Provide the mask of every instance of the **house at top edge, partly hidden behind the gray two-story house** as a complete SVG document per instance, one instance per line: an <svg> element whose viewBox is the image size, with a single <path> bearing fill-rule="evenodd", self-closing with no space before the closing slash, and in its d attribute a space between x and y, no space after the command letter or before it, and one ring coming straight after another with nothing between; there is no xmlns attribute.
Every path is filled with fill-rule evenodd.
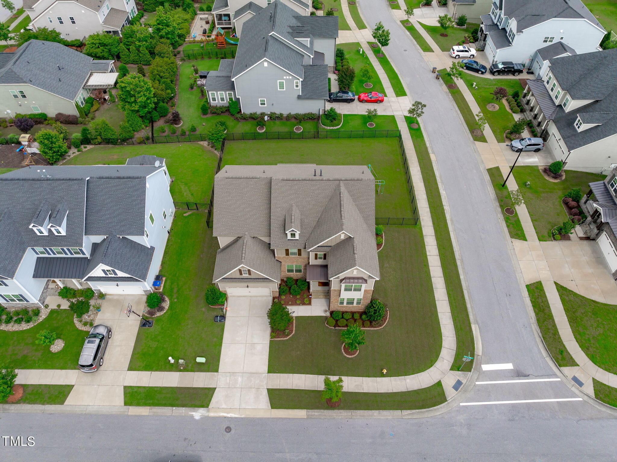
<svg viewBox="0 0 617 462"><path fill-rule="evenodd" d="M267 7L273 0L255 0L247 2L246 0L215 0L212 6L212 14L214 15L215 24L217 27L235 28L236 34L240 36L242 33L242 24L248 19L251 19L257 11ZM310 14L310 5L303 0L280 0L281 3L287 5L298 14L308 16Z"/></svg>

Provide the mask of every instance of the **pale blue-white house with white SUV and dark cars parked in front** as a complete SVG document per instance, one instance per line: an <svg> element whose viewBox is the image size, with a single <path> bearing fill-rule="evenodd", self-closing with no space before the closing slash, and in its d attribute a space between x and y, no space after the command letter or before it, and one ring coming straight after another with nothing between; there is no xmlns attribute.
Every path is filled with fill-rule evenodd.
<svg viewBox="0 0 617 462"><path fill-rule="evenodd" d="M607 33L581 0L495 0L481 19L479 46L489 62L526 67L537 49L558 41L579 54L597 51Z"/></svg>

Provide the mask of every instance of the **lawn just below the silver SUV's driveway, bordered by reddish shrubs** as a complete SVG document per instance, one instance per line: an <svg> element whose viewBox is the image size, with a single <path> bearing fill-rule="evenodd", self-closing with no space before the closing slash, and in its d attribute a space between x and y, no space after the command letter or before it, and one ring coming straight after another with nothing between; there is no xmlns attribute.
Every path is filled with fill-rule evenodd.
<svg viewBox="0 0 617 462"><path fill-rule="evenodd" d="M566 178L558 183L545 179L536 166L515 167L513 171L518 188L523 193L525 205L536 228L540 241L552 241L550 230L568 219L561 199L572 188L581 188L583 194L589 191L592 181L601 181L606 175L586 171L566 170ZM525 183L529 181L529 188Z"/></svg>

